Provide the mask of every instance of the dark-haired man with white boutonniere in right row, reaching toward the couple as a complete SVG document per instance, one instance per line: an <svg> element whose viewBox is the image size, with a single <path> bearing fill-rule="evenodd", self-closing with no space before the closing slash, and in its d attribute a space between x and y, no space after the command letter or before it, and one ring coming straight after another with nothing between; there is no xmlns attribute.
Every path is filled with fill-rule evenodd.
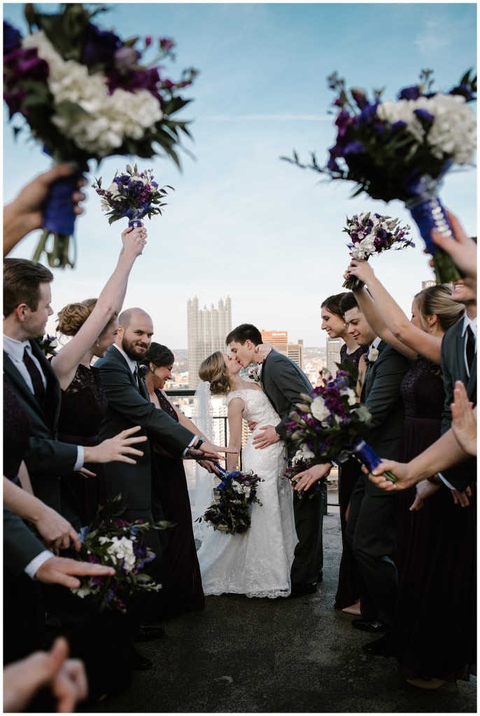
<svg viewBox="0 0 480 716"><path fill-rule="evenodd" d="M360 287L359 287L359 290ZM346 294L340 310L348 324L348 332L360 346L370 345L370 360L363 384L361 402L372 415L372 431L368 437L375 453L398 460L403 432L404 411L400 383L409 362L403 355L376 337L370 328L355 295ZM312 485L330 470L331 465L315 465L300 478L296 489ZM375 616L352 620L352 626L365 632L382 633L393 623L398 592L398 575L393 562L395 551L395 493L380 490L363 473L350 498L346 537L352 547L363 576L369 603ZM385 499L385 496L387 499ZM365 644L367 654L385 653L387 638Z"/></svg>

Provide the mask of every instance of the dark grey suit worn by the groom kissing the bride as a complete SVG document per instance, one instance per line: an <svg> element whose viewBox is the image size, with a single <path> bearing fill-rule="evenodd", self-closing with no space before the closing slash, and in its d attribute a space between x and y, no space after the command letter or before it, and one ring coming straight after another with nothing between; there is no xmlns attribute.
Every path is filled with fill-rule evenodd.
<svg viewBox="0 0 480 716"><path fill-rule="evenodd" d="M284 439L287 437L285 423L289 413L297 402L301 402L300 393L308 393L312 390L312 384L297 364L276 350L272 350L261 364L261 383L265 395L282 418L274 427ZM299 541L292 563L292 584L315 584L322 579L325 501L326 490L311 499L300 499L298 493L294 492L295 529Z"/></svg>

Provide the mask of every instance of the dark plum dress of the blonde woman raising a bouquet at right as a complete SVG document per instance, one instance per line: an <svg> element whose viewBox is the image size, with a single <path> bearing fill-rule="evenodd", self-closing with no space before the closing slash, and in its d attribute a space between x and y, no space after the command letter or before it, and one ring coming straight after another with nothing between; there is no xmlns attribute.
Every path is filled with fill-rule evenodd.
<svg viewBox="0 0 480 716"><path fill-rule="evenodd" d="M403 462L440 435L443 381L426 358L416 360L402 383ZM470 506L453 503L441 487L410 513L413 490L398 503L402 570L388 653L408 679L469 679L476 660L476 488ZM405 494L406 493L406 494ZM410 495L408 493L411 493Z"/></svg>

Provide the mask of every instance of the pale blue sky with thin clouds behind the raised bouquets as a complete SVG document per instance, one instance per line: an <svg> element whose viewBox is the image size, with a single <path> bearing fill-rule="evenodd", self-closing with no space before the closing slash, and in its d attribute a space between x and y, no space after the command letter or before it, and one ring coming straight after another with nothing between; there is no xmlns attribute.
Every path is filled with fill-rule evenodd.
<svg viewBox="0 0 480 716"><path fill-rule="evenodd" d="M46 9L47 4L40 4ZM57 4L50 4L52 9ZM160 185L176 192L161 217L147 221L148 246L133 268L125 307L149 311L155 340L186 347L186 302L201 306L231 296L234 325L288 330L291 340L325 345L320 304L342 290L348 263L345 217L378 211L408 221L403 205L363 195L350 199L350 183L325 183L320 175L279 160L297 150L321 163L334 143L333 70L347 85L369 92L385 87L394 99L414 84L422 68L435 71L436 89L449 89L476 62L476 4L110 4L101 16L123 38L173 37L170 74L194 66L201 74L193 97L193 142L183 173L162 158L138 160ZM4 17L25 30L22 4L4 4ZM135 158L133 158L135 160ZM104 184L125 167L110 158L90 177ZM4 120L4 200L48 167L41 148L13 142ZM476 171L447 175L443 203L476 234ZM92 189L77 221L74 271L55 270L53 307L99 294L120 251L123 222L111 227ZM374 257L380 280L410 310L421 281L432 278L421 238L416 248ZM38 236L12 256L32 256ZM53 328L49 324L49 329Z"/></svg>

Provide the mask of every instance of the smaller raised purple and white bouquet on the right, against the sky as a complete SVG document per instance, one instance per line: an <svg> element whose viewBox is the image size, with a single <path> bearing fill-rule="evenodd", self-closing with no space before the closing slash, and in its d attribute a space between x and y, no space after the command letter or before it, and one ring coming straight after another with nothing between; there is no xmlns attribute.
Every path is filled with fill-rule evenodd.
<svg viewBox="0 0 480 716"><path fill-rule="evenodd" d="M410 226L400 226L400 219L393 219L391 216L370 212L355 214L351 219L347 218L347 226L343 231L352 239L352 243L347 243L347 246L353 258L368 260L373 253L382 253L388 248L393 247L399 251L407 246L415 246L413 241L407 238ZM351 291L355 284L357 279L347 279L343 288Z"/></svg>

